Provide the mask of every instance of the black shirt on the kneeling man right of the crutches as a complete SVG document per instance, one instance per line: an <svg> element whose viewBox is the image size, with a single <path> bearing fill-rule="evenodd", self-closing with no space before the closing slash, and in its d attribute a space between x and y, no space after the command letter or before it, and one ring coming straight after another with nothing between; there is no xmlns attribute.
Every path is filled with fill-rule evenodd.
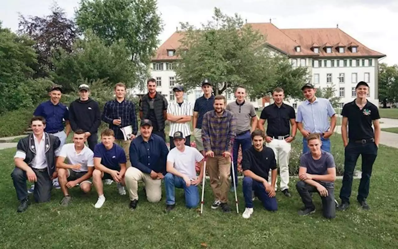
<svg viewBox="0 0 398 249"><path fill-rule="evenodd" d="M252 147L243 152L242 169L243 171L250 170L254 174L268 180L269 169L276 169L273 150L264 146L262 151L257 151L252 145Z"/></svg>

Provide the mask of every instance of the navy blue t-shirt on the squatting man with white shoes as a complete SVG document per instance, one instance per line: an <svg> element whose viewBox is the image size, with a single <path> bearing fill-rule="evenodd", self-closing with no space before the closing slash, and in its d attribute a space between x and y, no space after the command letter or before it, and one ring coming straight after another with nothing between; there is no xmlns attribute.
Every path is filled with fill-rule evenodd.
<svg viewBox="0 0 398 249"><path fill-rule="evenodd" d="M126 154L123 148L113 143L111 149L107 150L103 143L98 143L94 148L94 157L101 158L101 164L108 169L120 171L119 163L126 163Z"/></svg>

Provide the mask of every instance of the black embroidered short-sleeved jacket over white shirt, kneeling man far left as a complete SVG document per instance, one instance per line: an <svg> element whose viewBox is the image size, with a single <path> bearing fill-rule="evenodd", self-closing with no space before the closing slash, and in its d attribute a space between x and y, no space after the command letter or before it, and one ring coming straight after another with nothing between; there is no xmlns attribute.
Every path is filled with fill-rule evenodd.
<svg viewBox="0 0 398 249"><path fill-rule="evenodd" d="M51 177L55 171L55 151L60 147L60 140L58 137L51 135L47 132L45 136L45 153L47 160L47 171ZM18 141L17 151L22 151L26 154L23 160L29 167L32 167L31 162L36 156L35 140L33 139L33 133L27 137L24 137Z"/></svg>

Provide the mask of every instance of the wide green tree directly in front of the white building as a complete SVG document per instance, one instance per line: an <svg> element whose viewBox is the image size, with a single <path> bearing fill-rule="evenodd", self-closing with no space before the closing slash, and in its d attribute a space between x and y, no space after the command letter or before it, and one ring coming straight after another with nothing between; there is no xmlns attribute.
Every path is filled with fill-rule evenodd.
<svg viewBox="0 0 398 249"><path fill-rule="evenodd" d="M180 59L174 68L178 82L187 89L208 78L216 94L244 84L255 97L265 96L276 86L293 97L301 96L296 89L305 82L306 68L293 69L287 57L268 49L265 37L244 25L237 14L226 16L215 8L213 20L200 29L188 23L181 28Z"/></svg>

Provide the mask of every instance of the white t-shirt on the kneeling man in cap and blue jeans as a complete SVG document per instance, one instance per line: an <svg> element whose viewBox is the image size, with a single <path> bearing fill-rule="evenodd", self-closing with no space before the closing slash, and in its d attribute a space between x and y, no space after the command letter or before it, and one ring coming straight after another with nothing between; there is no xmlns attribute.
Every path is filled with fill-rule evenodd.
<svg viewBox="0 0 398 249"><path fill-rule="evenodd" d="M190 179L196 179L195 163L203 160L203 155L195 148L185 146L184 152L174 147L167 155L167 161L174 163L174 169Z"/></svg>

